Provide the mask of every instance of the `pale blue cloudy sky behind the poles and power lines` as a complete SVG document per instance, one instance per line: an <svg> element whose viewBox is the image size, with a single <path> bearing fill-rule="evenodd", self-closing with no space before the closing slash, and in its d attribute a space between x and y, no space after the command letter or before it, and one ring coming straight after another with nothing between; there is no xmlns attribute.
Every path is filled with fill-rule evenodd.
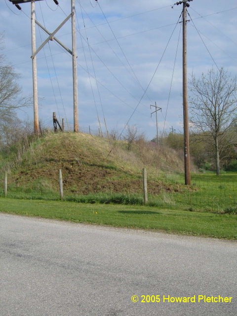
<svg viewBox="0 0 237 316"><path fill-rule="evenodd" d="M70 0L36 2L40 24L53 32L71 13ZM135 126L148 139L183 129L182 8L174 0L76 0L79 128L126 134ZM212 67L237 75L236 0L188 2L188 75ZM2 53L20 75L22 94L32 94L31 4L19 11L0 1ZM47 38L37 26L37 48ZM72 48L71 20L55 34ZM54 40L37 55L40 123L52 127L52 112L73 128L72 57ZM33 121L33 106L19 111Z"/></svg>

